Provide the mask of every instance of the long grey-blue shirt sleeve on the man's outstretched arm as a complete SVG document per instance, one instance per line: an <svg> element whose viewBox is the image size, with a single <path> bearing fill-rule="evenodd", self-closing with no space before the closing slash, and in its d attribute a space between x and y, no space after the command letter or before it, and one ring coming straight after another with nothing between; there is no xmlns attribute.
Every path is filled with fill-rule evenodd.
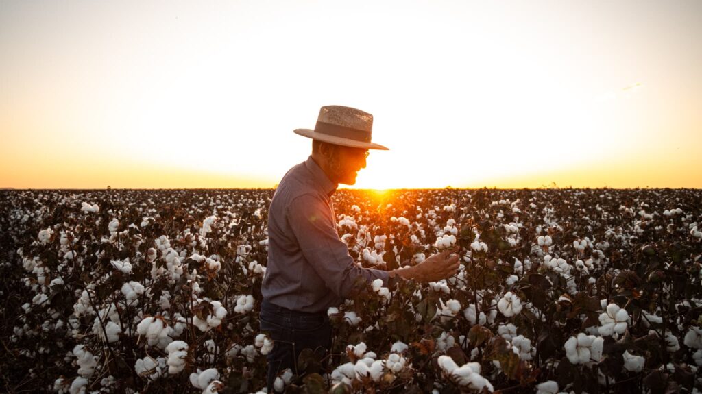
<svg viewBox="0 0 702 394"><path fill-rule="evenodd" d="M339 239L331 208L322 198L314 194L294 198L287 217L305 260L337 297L346 298L358 276L368 283L380 278L383 285L388 285L388 271L355 264L346 244Z"/></svg>

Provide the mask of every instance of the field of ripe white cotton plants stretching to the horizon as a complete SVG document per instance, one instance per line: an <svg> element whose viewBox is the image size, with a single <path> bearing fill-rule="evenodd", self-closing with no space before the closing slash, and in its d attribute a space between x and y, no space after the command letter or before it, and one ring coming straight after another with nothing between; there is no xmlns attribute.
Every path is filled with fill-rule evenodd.
<svg viewBox="0 0 702 394"><path fill-rule="evenodd" d="M263 393L272 190L0 191L2 390ZM702 191L349 191L359 283L288 393L699 393ZM325 374L306 373L322 365Z"/></svg>

